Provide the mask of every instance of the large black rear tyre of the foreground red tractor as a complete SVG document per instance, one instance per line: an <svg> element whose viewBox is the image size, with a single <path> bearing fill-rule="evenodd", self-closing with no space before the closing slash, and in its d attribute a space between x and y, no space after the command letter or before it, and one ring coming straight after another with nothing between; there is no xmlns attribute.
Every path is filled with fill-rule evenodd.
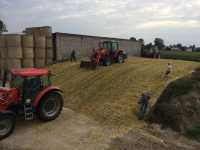
<svg viewBox="0 0 200 150"><path fill-rule="evenodd" d="M59 92L50 92L42 98L38 107L38 117L42 121L56 119L63 108L63 96Z"/></svg>

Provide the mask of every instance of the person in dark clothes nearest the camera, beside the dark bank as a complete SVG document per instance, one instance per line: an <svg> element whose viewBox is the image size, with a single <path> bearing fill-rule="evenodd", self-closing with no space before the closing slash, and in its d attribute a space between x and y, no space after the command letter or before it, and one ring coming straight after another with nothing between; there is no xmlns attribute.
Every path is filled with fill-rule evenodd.
<svg viewBox="0 0 200 150"><path fill-rule="evenodd" d="M143 117L146 114L150 99L151 97L148 92L142 93L142 96L140 97L138 102L138 104L140 104L140 110L139 110L140 117Z"/></svg>

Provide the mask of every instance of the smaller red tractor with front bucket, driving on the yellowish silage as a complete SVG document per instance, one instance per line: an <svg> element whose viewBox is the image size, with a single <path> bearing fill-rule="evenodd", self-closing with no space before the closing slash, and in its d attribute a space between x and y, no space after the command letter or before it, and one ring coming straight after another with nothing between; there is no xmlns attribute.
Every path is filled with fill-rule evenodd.
<svg viewBox="0 0 200 150"><path fill-rule="evenodd" d="M95 69L97 65L109 66L112 63L123 63L127 58L125 51L119 49L119 43L115 41L104 41L99 43L99 48L93 50L91 60L81 61L81 68Z"/></svg>

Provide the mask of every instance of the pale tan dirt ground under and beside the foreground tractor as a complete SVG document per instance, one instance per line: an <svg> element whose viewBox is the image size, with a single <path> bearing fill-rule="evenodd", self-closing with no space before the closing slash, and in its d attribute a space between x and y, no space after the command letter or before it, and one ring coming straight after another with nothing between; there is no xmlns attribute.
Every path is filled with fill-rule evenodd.
<svg viewBox="0 0 200 150"><path fill-rule="evenodd" d="M101 127L87 117L64 109L55 121L18 121L14 133L0 142L1 150L103 150L108 140L98 140Z"/></svg>

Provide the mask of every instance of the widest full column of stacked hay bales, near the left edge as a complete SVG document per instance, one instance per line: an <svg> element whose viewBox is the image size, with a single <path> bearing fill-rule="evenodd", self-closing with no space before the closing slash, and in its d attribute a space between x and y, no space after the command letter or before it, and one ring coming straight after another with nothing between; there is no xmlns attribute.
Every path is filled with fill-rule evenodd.
<svg viewBox="0 0 200 150"><path fill-rule="evenodd" d="M7 57L6 57L6 69L21 68L22 60L22 41L19 34L5 35Z"/></svg>

